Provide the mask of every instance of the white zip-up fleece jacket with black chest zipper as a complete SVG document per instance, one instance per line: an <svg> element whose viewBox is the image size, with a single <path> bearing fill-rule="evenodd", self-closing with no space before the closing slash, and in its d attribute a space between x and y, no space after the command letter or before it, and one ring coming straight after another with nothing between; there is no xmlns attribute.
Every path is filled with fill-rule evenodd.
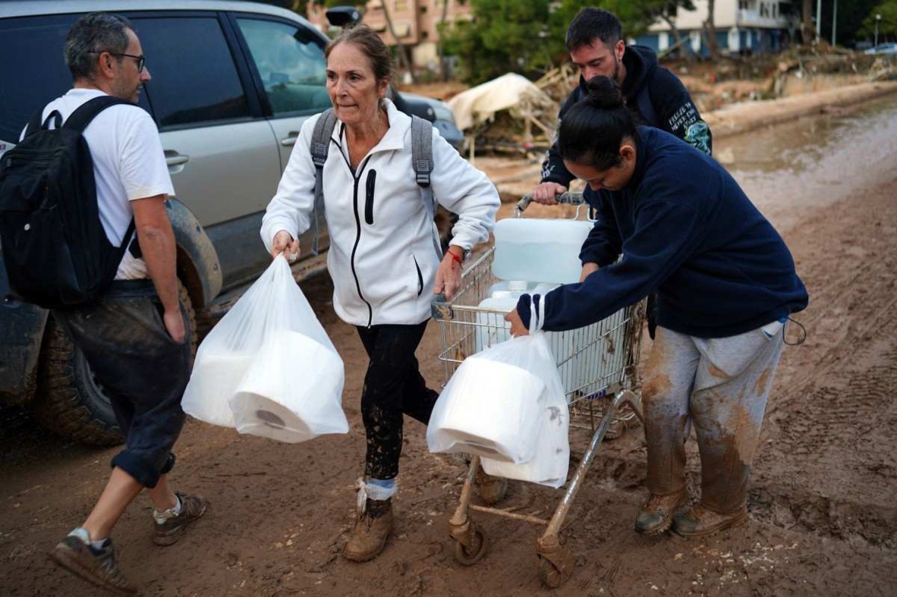
<svg viewBox="0 0 897 597"><path fill-rule="evenodd" d="M324 207L334 281L334 308L353 325L420 324L430 316L439 257L411 163L411 117L384 100L389 129L353 174L344 125L337 121L324 164ZM315 166L309 144L318 116L302 125L277 195L262 220L268 250L274 235L309 229ZM489 238L499 208L495 186L433 130L431 188L459 218L452 245L465 250Z"/></svg>

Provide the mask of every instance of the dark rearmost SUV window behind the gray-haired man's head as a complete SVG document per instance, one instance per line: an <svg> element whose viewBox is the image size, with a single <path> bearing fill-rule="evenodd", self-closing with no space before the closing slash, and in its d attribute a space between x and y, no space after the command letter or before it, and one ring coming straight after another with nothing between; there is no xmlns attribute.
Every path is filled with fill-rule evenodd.
<svg viewBox="0 0 897 597"><path fill-rule="evenodd" d="M0 141L18 143L28 119L72 88L65 36L78 14L0 19L4 48L27 60L0 59ZM149 109L146 99L140 105Z"/></svg>

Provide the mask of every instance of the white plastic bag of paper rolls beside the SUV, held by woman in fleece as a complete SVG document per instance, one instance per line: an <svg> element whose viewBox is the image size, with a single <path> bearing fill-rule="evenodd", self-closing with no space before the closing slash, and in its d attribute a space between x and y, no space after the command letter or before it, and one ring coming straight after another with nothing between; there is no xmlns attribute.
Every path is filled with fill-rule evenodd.
<svg viewBox="0 0 897 597"><path fill-rule="evenodd" d="M199 420L295 443L348 433L343 384L342 359L278 257L200 344L181 406Z"/></svg>

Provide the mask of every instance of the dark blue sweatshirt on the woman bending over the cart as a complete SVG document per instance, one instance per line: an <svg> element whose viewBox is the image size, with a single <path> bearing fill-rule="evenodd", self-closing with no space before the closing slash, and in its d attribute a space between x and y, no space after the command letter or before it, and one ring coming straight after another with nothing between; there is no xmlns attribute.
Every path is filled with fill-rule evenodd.
<svg viewBox="0 0 897 597"><path fill-rule="evenodd" d="M579 257L600 269L545 295L538 328L594 324L654 291L658 325L701 338L745 333L806 307L779 233L726 169L672 134L640 127L629 184L588 188L585 198L597 221ZM543 300L533 299L537 307ZM530 327L528 295L518 313Z"/></svg>

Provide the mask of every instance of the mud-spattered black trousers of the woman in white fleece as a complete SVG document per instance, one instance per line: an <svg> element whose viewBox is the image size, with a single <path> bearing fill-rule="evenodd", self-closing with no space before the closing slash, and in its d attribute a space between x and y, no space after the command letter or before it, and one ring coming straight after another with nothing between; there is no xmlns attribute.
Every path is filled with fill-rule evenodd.
<svg viewBox="0 0 897 597"><path fill-rule="evenodd" d="M368 479L396 478L403 414L424 425L430 422L439 394L427 387L414 358L426 329L426 321L358 328L370 358L361 392L361 420L368 437L364 475Z"/></svg>

